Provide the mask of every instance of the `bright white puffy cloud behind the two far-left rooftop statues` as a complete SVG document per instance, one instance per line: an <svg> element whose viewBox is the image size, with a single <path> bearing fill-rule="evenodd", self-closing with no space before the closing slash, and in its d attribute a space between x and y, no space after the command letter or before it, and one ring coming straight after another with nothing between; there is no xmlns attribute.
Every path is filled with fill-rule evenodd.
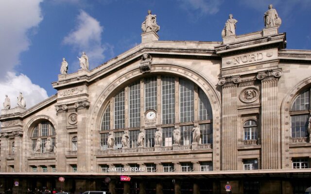
<svg viewBox="0 0 311 194"><path fill-rule="evenodd" d="M26 75L20 74L17 76L13 72L8 72L5 80L0 81L0 88L1 109L3 109L5 95L10 98L11 109L17 106L19 92L22 92L25 98L26 108L30 108L48 97L46 90L32 83Z"/></svg>

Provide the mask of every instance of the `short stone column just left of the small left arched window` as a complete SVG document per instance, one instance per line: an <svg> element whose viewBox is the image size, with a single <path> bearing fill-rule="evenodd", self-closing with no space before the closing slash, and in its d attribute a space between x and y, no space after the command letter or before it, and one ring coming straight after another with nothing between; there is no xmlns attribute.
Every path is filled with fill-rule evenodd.
<svg viewBox="0 0 311 194"><path fill-rule="evenodd" d="M12 135L14 135L14 171L22 172L22 138L23 131L13 131Z"/></svg>

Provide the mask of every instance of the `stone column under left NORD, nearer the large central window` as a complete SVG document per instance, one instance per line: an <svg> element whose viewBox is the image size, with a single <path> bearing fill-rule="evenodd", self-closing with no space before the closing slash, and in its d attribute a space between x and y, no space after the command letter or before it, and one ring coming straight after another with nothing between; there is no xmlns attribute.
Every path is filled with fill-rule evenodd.
<svg viewBox="0 0 311 194"><path fill-rule="evenodd" d="M89 138L88 134L90 134L89 129L87 129L86 125L86 112L89 107L88 101L76 102L74 107L78 112L78 150L77 150L77 168L79 172L88 172L91 152L90 152L90 144L88 143ZM85 160L85 159L88 160Z"/></svg>

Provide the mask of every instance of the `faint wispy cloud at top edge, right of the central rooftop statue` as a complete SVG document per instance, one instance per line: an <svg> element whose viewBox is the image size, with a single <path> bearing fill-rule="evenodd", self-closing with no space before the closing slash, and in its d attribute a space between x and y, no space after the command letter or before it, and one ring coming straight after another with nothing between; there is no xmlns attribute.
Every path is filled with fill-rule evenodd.
<svg viewBox="0 0 311 194"><path fill-rule="evenodd" d="M178 0L180 7L193 17L201 17L204 15L213 15L219 11L223 0Z"/></svg>

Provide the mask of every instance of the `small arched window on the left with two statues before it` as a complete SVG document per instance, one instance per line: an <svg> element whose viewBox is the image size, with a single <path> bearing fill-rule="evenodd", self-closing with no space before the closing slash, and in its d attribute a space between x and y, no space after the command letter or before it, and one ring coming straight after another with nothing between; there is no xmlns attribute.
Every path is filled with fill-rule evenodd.
<svg viewBox="0 0 311 194"><path fill-rule="evenodd" d="M55 146L55 128L50 121L42 121L35 125L31 136L32 141L32 153L44 153L46 152L45 143L50 138L52 151L54 152ZM39 140L39 141L38 141ZM40 142L40 149L36 150L37 142Z"/></svg>

